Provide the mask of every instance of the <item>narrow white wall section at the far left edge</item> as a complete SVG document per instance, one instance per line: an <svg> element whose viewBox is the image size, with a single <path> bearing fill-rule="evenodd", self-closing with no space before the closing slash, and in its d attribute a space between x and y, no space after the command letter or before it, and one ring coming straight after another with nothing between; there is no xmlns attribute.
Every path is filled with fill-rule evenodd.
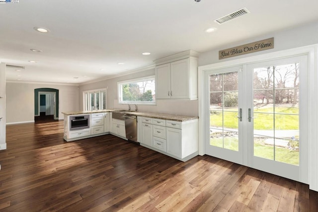
<svg viewBox="0 0 318 212"><path fill-rule="evenodd" d="M5 142L5 64L0 63L0 150L6 149Z"/></svg>

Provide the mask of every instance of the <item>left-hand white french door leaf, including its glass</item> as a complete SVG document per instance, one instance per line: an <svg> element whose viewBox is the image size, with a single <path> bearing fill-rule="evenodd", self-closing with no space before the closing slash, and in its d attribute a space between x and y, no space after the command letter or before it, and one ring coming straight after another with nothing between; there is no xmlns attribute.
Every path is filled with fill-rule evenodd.
<svg viewBox="0 0 318 212"><path fill-rule="evenodd" d="M243 164L241 70L236 66L205 73L210 132L206 154L239 164Z"/></svg>

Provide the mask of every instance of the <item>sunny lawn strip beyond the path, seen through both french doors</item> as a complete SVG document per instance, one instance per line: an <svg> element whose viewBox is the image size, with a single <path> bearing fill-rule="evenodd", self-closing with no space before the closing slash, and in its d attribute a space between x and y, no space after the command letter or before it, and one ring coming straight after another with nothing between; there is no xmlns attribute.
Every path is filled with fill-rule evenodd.
<svg viewBox="0 0 318 212"><path fill-rule="evenodd" d="M264 107L254 109L254 129L271 130L273 129L273 107ZM277 113L291 113L277 114ZM275 126L276 129L298 129L299 125L299 109L297 107L275 107ZM238 128L238 112L224 111L224 127ZM223 126L222 112L211 111L210 114L211 126Z"/></svg>

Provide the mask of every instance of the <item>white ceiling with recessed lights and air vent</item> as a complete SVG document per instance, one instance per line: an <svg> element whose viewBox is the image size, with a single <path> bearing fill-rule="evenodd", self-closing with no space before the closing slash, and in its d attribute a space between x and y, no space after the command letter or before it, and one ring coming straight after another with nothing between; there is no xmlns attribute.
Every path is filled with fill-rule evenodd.
<svg viewBox="0 0 318 212"><path fill-rule="evenodd" d="M214 22L243 7L250 13ZM317 21L317 9L317 0L19 0L0 4L0 61L25 67L7 68L7 81L81 84Z"/></svg>

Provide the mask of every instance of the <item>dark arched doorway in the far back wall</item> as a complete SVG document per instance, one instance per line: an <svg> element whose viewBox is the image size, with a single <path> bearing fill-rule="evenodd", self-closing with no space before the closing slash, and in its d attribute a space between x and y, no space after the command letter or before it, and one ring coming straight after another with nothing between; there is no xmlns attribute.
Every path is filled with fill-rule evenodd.
<svg viewBox="0 0 318 212"><path fill-rule="evenodd" d="M52 88L34 89L34 121L59 119L59 90Z"/></svg>

